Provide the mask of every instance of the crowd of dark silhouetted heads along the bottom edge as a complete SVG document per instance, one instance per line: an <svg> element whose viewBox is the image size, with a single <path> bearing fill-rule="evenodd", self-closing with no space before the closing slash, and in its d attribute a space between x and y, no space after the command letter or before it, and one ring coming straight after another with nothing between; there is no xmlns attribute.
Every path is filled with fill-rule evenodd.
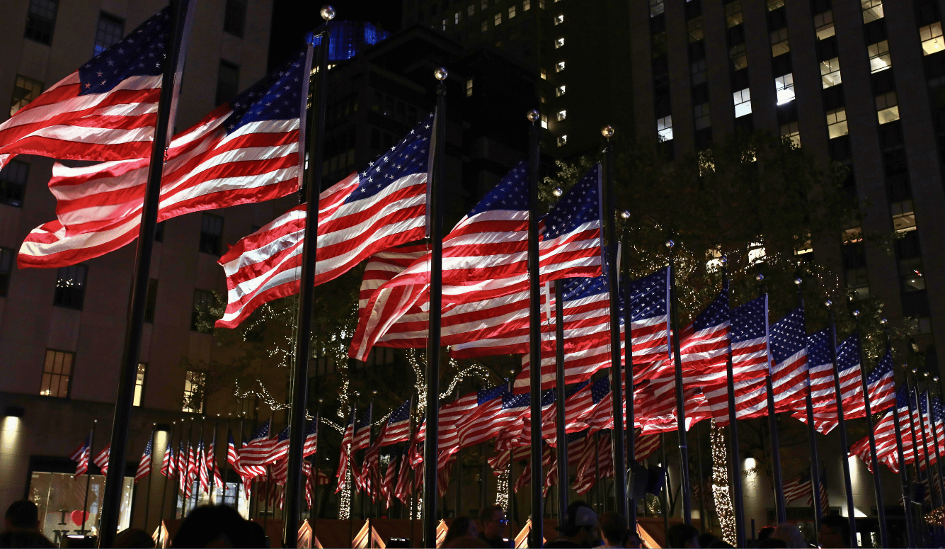
<svg viewBox="0 0 945 549"><path fill-rule="evenodd" d="M450 523L441 547L490 549L513 546L513 541L504 537L508 533L508 520L502 506L482 508L477 519L456 517ZM623 515L607 511L598 516L592 506L582 501L568 506L557 530L557 537L546 542L545 547L643 547L639 534L627 527ZM818 535L822 547L850 547L850 523L844 517L825 517ZM551 539L550 533L547 537ZM94 547L94 539L70 538L65 540L65 546ZM118 533L114 546L152 548L155 542L144 530L129 528ZM269 540L261 525L247 521L231 506L198 506L180 523L172 546L269 547ZM394 547L395 543L387 546ZM699 535L695 526L682 523L670 526L665 546L676 549L731 547L713 534ZM789 523L765 526L749 546L753 549L810 547L798 527ZM40 531L36 504L22 500L9 506L4 517L4 531L0 534L0 547L56 547Z"/></svg>

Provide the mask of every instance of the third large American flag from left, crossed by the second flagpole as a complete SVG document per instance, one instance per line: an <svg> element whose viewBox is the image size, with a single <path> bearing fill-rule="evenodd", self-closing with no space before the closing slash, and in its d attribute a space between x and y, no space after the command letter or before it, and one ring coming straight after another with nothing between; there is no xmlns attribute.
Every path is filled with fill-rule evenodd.
<svg viewBox="0 0 945 549"><path fill-rule="evenodd" d="M364 171L319 195L317 284L375 252L423 238L431 123L427 117ZM262 304L299 293L305 208L289 210L220 258L229 302L216 326L234 328Z"/></svg>

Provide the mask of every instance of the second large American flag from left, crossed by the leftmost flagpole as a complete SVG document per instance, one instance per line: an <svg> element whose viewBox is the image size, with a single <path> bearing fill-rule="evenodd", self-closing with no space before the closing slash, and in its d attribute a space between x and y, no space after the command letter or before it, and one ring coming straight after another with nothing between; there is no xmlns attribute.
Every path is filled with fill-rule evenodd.
<svg viewBox="0 0 945 549"><path fill-rule="evenodd" d="M304 53L297 54L171 141L158 221L283 197L298 188L304 61ZM137 238L148 163L54 166L49 188L58 218L27 236L19 265L75 265Z"/></svg>

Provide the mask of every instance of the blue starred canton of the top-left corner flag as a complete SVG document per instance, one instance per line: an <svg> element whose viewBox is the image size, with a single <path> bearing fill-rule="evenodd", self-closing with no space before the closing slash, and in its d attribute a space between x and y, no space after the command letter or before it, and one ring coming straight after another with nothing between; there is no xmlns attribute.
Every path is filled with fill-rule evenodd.
<svg viewBox="0 0 945 549"><path fill-rule="evenodd" d="M167 7L152 15L124 40L79 67L79 94L104 94L129 77L160 76L170 22L170 7Z"/></svg>

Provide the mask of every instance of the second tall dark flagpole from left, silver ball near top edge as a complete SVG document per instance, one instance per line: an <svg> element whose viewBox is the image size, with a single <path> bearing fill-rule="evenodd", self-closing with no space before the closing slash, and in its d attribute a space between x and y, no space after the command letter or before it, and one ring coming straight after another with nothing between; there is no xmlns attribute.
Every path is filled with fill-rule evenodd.
<svg viewBox="0 0 945 549"><path fill-rule="evenodd" d="M325 139L325 105L327 91L325 78L328 73L328 49L331 42L331 33L328 31L328 22L335 18L335 9L325 6L321 9L321 17L325 20L325 27L318 37L318 76L316 89L312 92L312 108L308 111L308 129L310 132L308 143L304 143L305 129L300 128L299 163L305 164L305 145L308 146L308 169L300 174L300 183L305 193L305 231L304 245L301 251L301 277L299 290L299 310L296 318L295 353L292 360L292 400L289 405L289 449L288 470L285 481L285 514L283 515L283 543L285 547L296 547L299 543L299 520L301 518L301 461L302 448L305 445L305 411L308 399L308 357L312 335L312 301L315 299L315 275L318 261L318 193L321 192L321 155ZM313 36L305 46L305 63L308 70L306 77L311 75L312 57L314 54ZM306 92L309 86L302 88ZM301 94L300 112L305 112L308 94ZM305 116L300 116L300 124ZM268 494L266 494L268 502Z"/></svg>

